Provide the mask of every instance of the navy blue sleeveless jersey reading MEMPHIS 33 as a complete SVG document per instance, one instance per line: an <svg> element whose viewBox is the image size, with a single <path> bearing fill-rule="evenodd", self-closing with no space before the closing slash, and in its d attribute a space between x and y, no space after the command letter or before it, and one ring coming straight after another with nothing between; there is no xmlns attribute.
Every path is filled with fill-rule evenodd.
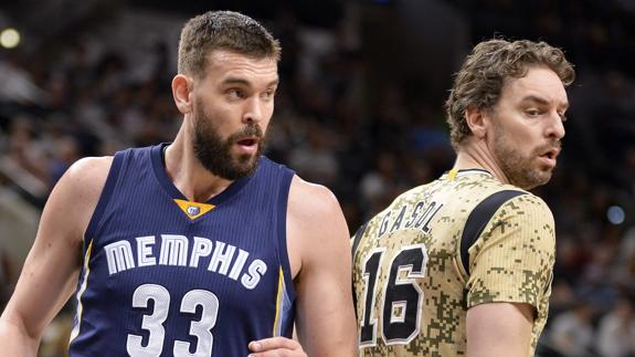
<svg viewBox="0 0 635 357"><path fill-rule="evenodd" d="M114 157L84 237L70 355L244 357L289 336L293 171L256 171L204 203L167 176L165 145Z"/></svg>

